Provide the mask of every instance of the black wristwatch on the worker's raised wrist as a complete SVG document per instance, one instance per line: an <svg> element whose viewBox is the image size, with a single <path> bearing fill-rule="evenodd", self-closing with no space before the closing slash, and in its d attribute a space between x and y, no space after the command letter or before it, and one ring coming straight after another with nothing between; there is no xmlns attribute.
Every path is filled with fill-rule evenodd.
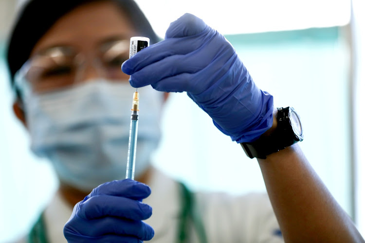
<svg viewBox="0 0 365 243"><path fill-rule="evenodd" d="M303 140L302 124L292 107L277 108L277 127L270 136L261 136L241 146L250 158L263 158Z"/></svg>

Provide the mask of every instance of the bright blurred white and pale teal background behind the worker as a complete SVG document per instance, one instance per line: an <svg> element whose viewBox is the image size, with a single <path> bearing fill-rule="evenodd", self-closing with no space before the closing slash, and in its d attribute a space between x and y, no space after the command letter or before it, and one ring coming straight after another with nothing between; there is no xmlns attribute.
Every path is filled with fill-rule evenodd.
<svg viewBox="0 0 365 243"><path fill-rule="evenodd" d="M52 168L31 154L26 130L12 113L4 46L20 3L0 0L1 243L27 232L57 188ZM137 3L162 38L186 12L226 36L257 86L274 95L275 106L299 113L300 147L365 236L364 0ZM192 190L265 191L257 161L221 134L186 93L170 95L162 126L154 163L165 173Z"/></svg>

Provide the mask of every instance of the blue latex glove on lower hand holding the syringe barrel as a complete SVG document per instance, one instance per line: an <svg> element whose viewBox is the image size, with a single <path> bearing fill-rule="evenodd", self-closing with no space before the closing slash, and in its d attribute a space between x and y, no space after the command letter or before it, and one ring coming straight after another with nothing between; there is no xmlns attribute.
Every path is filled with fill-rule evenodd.
<svg viewBox="0 0 365 243"><path fill-rule="evenodd" d="M142 199L150 193L148 186L130 179L102 184L75 205L63 234L69 243L148 241L154 231L142 220L152 208Z"/></svg>

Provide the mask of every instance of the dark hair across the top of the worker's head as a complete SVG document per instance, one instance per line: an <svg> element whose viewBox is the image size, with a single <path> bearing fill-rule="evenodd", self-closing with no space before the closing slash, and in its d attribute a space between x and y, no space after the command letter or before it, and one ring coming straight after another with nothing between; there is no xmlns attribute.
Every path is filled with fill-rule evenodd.
<svg viewBox="0 0 365 243"><path fill-rule="evenodd" d="M20 10L7 43L6 60L10 71L10 81L14 86L14 75L28 60L37 41L55 22L79 5L102 0L29 0ZM132 20L133 27L157 43L158 36L147 18L133 0L108 0L114 2ZM42 10L42 11L40 11ZM16 90L18 98L19 92Z"/></svg>

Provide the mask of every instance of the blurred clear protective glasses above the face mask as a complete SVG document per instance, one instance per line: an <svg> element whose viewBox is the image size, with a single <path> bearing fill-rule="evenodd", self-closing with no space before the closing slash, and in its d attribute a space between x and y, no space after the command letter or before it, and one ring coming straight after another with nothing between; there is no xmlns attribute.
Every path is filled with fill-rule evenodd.
<svg viewBox="0 0 365 243"><path fill-rule="evenodd" d="M20 92L52 92L82 82L89 68L98 77L120 82L128 79L121 65L129 58L129 40L113 40L97 48L95 53L77 52L72 46L48 48L31 57L15 74Z"/></svg>

